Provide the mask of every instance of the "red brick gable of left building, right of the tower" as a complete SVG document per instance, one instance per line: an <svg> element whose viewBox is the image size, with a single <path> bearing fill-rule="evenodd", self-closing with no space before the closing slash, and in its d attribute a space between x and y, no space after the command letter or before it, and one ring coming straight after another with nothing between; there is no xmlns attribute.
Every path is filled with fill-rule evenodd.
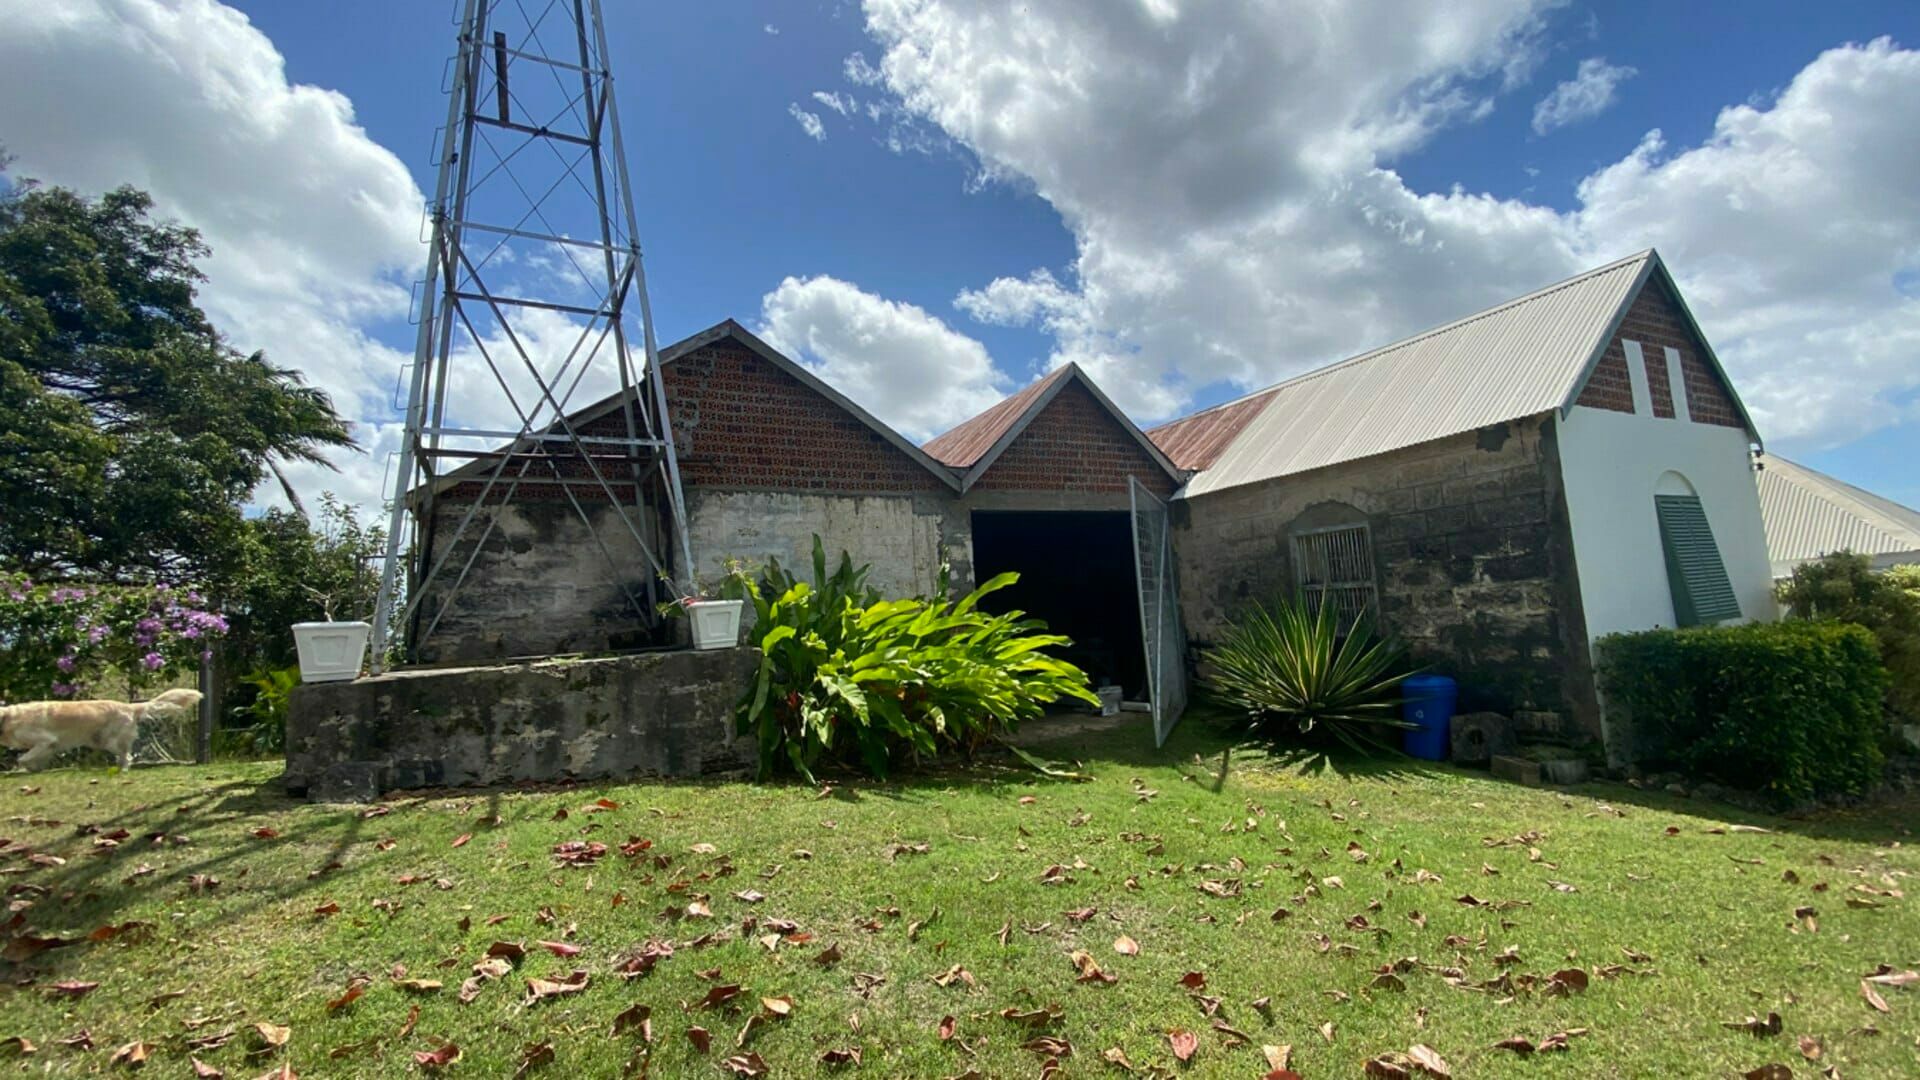
<svg viewBox="0 0 1920 1080"><path fill-rule="evenodd" d="M939 479L879 432L722 340L660 367L684 486L929 492ZM612 417L612 427L622 421Z"/></svg>

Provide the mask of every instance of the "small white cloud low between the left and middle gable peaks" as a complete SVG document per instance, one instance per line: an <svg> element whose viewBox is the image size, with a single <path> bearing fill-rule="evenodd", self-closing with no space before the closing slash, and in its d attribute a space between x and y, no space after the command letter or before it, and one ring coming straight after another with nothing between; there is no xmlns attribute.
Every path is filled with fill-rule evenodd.
<svg viewBox="0 0 1920 1080"><path fill-rule="evenodd" d="M837 277L789 277L760 300L756 332L914 442L1000 400L987 346L924 307Z"/></svg>

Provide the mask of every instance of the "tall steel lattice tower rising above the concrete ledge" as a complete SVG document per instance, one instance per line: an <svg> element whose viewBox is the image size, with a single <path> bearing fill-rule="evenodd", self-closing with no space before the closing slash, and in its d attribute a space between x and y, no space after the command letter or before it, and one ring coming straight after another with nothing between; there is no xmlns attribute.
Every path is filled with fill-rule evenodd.
<svg viewBox="0 0 1920 1080"><path fill-rule="evenodd" d="M630 582L582 498L612 503L599 528L649 563L622 584L643 625L655 580L693 565L601 0L465 0L447 90L374 671L394 632L419 655L472 569L459 542L478 553L522 494L570 507ZM568 411L612 392L624 429L576 430ZM442 521L455 484L470 502Z"/></svg>

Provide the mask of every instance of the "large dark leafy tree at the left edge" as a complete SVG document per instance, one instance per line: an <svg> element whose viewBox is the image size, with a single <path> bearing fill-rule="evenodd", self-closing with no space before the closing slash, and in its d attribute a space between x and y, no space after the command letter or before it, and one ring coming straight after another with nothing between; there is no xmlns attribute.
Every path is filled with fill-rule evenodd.
<svg viewBox="0 0 1920 1080"><path fill-rule="evenodd" d="M323 390L211 327L209 250L152 206L0 190L0 565L225 598L261 479L353 438Z"/></svg>

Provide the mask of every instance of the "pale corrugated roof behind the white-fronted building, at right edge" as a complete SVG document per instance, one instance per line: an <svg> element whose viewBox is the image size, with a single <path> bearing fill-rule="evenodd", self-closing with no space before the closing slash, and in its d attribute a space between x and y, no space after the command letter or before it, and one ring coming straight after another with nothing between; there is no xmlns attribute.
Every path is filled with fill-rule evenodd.
<svg viewBox="0 0 1920 1080"><path fill-rule="evenodd" d="M1786 457L1768 454L1763 465L1761 519L1776 575L1828 552L1859 552L1882 563L1920 561L1920 511Z"/></svg>

